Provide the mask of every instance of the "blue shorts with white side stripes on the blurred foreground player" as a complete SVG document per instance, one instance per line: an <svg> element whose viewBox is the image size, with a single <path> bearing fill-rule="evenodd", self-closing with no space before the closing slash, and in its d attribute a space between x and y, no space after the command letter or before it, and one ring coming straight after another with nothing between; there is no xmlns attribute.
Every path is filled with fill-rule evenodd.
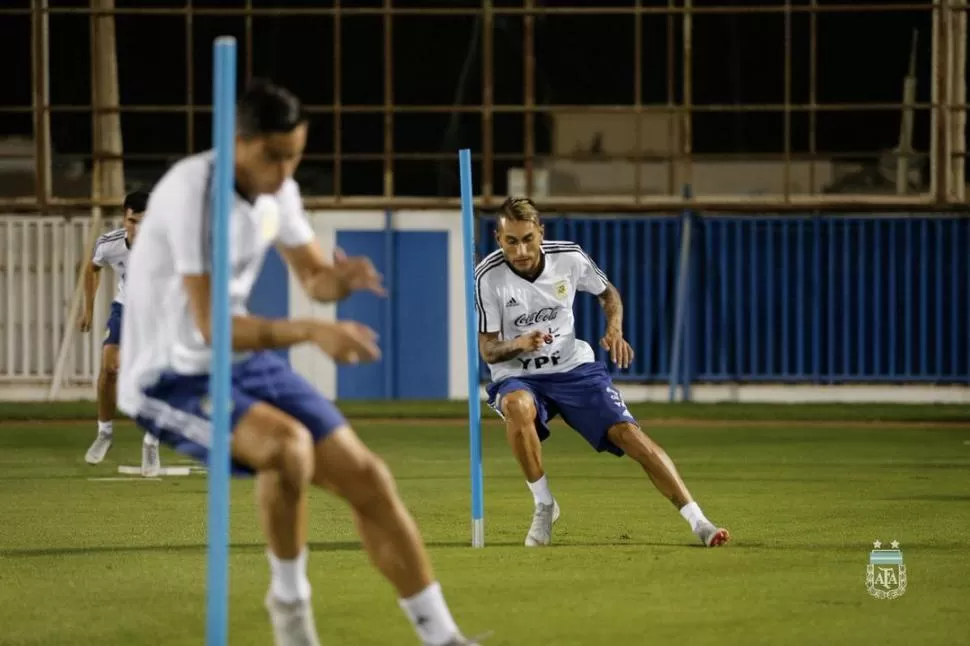
<svg viewBox="0 0 970 646"><path fill-rule="evenodd" d="M160 442L208 463L212 425L209 413L209 375L165 373L144 391L135 421ZM275 352L257 352L232 370L231 424L235 430L249 408L265 402L303 424L314 443L347 421L337 407L293 372ZM252 475L253 469L235 460L233 475Z"/></svg>

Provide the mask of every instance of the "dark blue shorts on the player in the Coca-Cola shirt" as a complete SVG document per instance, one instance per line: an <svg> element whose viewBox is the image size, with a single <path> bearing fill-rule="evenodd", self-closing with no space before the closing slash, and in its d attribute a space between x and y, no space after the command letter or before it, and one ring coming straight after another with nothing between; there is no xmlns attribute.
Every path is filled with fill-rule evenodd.
<svg viewBox="0 0 970 646"><path fill-rule="evenodd" d="M638 425L601 362L584 363L568 372L509 377L489 384L488 405L501 415L502 397L517 390L527 391L535 400L539 441L549 437L549 421L561 415L594 449L621 456L623 450L609 440L607 432L621 423Z"/></svg>

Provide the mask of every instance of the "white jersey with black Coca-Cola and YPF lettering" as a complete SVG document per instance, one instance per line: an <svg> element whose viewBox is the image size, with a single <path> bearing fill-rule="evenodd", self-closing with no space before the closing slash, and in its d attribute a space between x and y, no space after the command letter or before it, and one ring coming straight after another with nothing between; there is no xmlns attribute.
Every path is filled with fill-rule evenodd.
<svg viewBox="0 0 970 646"><path fill-rule="evenodd" d="M492 381L567 372L595 360L589 344L576 338L573 300L577 291L602 294L609 285L606 274L572 242L543 242L542 262L535 280L513 270L501 249L475 268L479 333L498 332L505 341L533 330L552 336L552 343L536 352L489 364Z"/></svg>

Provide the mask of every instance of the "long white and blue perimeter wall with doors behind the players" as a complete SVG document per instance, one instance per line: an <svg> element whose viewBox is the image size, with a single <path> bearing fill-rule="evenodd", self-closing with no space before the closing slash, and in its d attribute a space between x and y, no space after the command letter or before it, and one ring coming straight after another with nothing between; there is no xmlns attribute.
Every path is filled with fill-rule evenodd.
<svg viewBox="0 0 970 646"><path fill-rule="evenodd" d="M458 214L321 212L311 219L327 253L340 246L371 257L391 297L311 303L273 253L252 310L360 320L381 335L384 357L345 367L309 347L282 354L338 399L464 399ZM83 219L39 220L0 220L4 399L46 393L74 284L69 270L83 257ZM681 370L695 401L970 403L966 217L550 218L547 237L582 244L624 296L637 359L615 377L629 401L668 396L685 223L692 242ZM481 223L478 239L479 256L493 248L490 222ZM111 283L102 282L99 312ZM576 313L581 336L595 341L603 330L595 299L581 295ZM95 323L103 326L103 317ZM100 335L76 346L64 397L88 398Z"/></svg>

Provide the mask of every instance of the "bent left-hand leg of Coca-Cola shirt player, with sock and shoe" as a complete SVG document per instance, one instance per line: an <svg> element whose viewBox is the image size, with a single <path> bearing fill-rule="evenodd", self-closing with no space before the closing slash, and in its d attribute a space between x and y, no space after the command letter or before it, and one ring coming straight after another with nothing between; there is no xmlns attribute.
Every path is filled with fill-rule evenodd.
<svg viewBox="0 0 970 646"><path fill-rule="evenodd" d="M510 390L502 393L497 403L505 418L506 439L522 468L535 504L525 545L549 545L552 542L552 526L559 520L559 503L549 489L549 480L542 468L542 445L536 429L539 411L535 396L528 390Z"/></svg>

